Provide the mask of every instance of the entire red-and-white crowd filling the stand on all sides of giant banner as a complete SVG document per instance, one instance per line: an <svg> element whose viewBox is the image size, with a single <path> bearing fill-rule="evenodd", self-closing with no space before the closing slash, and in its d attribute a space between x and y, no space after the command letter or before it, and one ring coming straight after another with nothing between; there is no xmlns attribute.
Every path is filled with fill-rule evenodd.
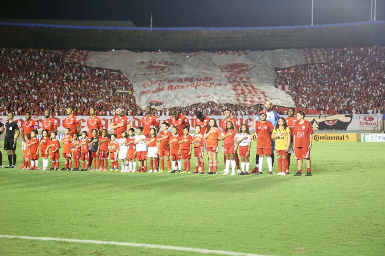
<svg viewBox="0 0 385 256"><path fill-rule="evenodd" d="M327 53L329 63L296 65L291 69L293 72L276 73L276 85L290 86L288 93L296 108L328 114L384 113L385 48L330 48ZM45 109L65 115L69 102L75 108L75 115L88 115L90 107L97 108L97 115L114 115L114 109L122 107L122 103L126 115L144 115L132 96L131 81L108 69L70 62L64 50L3 48L0 70L2 115L7 112L23 115L25 111L42 115ZM128 90L114 91L117 86ZM236 116L254 115L263 105L245 107L208 102L176 110L184 115L198 111L223 115L228 108ZM168 115L171 109L154 111L157 115Z"/></svg>

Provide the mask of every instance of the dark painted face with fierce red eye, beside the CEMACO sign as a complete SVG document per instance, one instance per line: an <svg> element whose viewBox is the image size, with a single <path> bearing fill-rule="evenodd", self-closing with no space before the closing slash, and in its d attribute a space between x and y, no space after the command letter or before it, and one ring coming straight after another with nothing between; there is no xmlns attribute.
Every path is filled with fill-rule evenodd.
<svg viewBox="0 0 385 256"><path fill-rule="evenodd" d="M315 131L333 131L346 130L352 122L353 115L331 115L318 118L311 117L313 120L308 120Z"/></svg>

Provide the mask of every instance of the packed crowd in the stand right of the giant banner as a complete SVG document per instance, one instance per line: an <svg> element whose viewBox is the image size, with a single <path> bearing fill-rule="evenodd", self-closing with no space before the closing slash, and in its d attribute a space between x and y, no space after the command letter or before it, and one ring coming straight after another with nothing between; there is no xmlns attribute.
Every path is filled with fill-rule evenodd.
<svg viewBox="0 0 385 256"><path fill-rule="evenodd" d="M296 65L277 73L297 108L334 113L384 113L385 47L330 48L329 63Z"/></svg>

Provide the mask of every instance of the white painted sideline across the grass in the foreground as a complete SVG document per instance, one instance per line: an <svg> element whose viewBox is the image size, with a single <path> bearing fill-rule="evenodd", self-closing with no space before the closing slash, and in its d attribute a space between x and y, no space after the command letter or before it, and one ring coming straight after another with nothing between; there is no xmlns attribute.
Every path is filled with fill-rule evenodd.
<svg viewBox="0 0 385 256"><path fill-rule="evenodd" d="M9 236L9 235L0 235L0 238L20 238L20 239L30 239L30 240L63 241L63 242L72 242L72 243L88 243L88 244L112 244L112 245L120 245L120 246L134 246L134 247L166 249L166 250L176 250L176 251L192 251L195 253L215 253L215 254L233 255L233 256L268 256L268 255L253 254L253 253L237 253L233 251L220 251L220 250L209 250L209 249L199 249L199 248L189 248L189 247L179 247L179 246L156 245L156 244L122 243L122 242L113 242L113 241L97 241L97 240L83 240L83 239L80 240L80 239L34 237L34 236Z"/></svg>

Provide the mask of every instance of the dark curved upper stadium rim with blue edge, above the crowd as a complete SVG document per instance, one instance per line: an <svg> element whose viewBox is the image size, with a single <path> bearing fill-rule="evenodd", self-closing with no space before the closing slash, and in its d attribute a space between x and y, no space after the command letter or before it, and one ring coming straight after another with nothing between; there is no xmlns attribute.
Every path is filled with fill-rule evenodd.
<svg viewBox="0 0 385 256"><path fill-rule="evenodd" d="M385 46L385 21L290 27L138 28L0 22L0 46L171 51Z"/></svg>

